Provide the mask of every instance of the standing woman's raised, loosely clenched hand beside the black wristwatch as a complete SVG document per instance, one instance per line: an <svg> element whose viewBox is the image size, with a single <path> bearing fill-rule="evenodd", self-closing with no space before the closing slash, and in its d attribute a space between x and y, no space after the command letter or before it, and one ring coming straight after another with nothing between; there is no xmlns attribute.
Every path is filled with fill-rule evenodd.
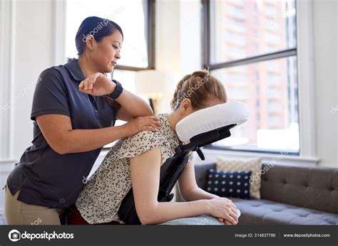
<svg viewBox="0 0 338 246"><path fill-rule="evenodd" d="M115 90L116 83L109 80L102 73L94 73L93 75L82 80L78 89L86 94L93 96L110 95Z"/></svg>

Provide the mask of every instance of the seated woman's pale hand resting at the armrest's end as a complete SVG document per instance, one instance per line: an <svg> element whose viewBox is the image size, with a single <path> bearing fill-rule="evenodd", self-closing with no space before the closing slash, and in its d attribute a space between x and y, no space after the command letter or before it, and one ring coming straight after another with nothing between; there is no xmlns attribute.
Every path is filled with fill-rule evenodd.
<svg viewBox="0 0 338 246"><path fill-rule="evenodd" d="M232 203L231 200L227 198L212 198L210 201L210 215L215 218L221 218L224 220L225 225L231 223L231 225L236 225L238 223L237 219L237 207ZM220 221L220 220L219 220Z"/></svg>

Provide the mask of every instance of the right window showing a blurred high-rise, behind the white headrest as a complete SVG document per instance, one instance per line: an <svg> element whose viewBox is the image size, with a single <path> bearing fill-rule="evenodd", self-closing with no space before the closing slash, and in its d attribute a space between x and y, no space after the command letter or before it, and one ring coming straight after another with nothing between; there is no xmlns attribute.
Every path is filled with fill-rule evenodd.
<svg viewBox="0 0 338 246"><path fill-rule="evenodd" d="M203 0L203 23L204 67L250 108L232 137L208 147L298 155L295 0Z"/></svg>

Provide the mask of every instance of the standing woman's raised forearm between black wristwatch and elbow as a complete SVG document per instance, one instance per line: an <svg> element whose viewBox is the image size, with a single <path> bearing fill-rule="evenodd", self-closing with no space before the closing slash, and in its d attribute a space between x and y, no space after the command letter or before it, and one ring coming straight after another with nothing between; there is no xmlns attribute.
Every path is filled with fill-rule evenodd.
<svg viewBox="0 0 338 246"><path fill-rule="evenodd" d="M128 92L128 90L123 90L118 99L116 99L116 102L125 108L133 118L152 116L154 114L153 109L151 109L145 100Z"/></svg>

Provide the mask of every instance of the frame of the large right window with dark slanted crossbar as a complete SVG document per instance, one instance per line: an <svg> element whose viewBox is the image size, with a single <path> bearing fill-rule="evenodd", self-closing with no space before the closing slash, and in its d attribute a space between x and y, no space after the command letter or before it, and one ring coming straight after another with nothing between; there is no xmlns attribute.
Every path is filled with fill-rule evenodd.
<svg viewBox="0 0 338 246"><path fill-rule="evenodd" d="M271 53L263 53L260 55L252 55L247 58L240 58L237 60L230 60L227 62L222 62L222 63L211 63L211 8L210 8L210 1L212 0L201 0L202 1L202 62L203 65L202 67L205 69L210 70L217 70L217 69L222 69L222 68L232 68L240 65L247 65L250 63L259 63L262 61L267 61L267 60L275 60L279 58L287 58L287 57L292 57L295 56L297 59L297 47L298 47L298 24L297 24L297 0L295 0L295 9L296 9L296 46L294 48L285 48L283 50L276 50ZM299 64L299 61L297 59L297 64ZM299 66L297 66L297 86L299 88ZM251 152L251 153L260 153L260 154L280 154L281 152L285 153L287 151L286 155L289 156L300 156L302 151L302 137L301 137L301 125L300 125L300 107L299 107L299 89L297 90L297 109L298 109L298 123L299 123L299 151L292 151L290 149L272 149L272 150L267 150L267 149L260 149L260 148L255 148L255 149L250 149L250 148L235 148L233 149L232 147L228 146L215 146L212 144L206 145L204 148L205 149L215 149L215 150L225 150L225 151L244 151L244 152Z"/></svg>

